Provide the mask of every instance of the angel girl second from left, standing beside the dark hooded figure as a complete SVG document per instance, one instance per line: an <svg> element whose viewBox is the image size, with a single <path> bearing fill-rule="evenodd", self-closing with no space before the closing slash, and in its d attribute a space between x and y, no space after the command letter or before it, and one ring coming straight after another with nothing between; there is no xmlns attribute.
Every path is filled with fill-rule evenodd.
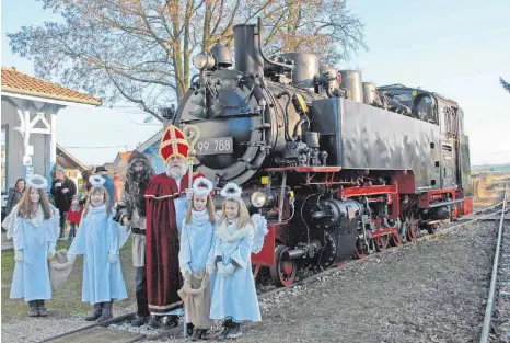
<svg viewBox="0 0 510 343"><path fill-rule="evenodd" d="M113 317L114 300L127 298L120 268L119 250L128 235L114 221L108 192L100 175L89 179L89 192L78 235L68 251L68 259L83 254L82 301L94 306L88 321L105 321ZM128 232L128 231L127 231Z"/></svg>

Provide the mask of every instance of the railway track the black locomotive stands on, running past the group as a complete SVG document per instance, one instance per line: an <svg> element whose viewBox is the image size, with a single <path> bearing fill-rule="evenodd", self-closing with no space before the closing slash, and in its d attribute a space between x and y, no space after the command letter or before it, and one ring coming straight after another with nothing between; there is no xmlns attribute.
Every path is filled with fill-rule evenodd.
<svg viewBox="0 0 510 343"><path fill-rule="evenodd" d="M506 196L509 192L506 192ZM453 231L454 229L457 229L460 227L465 227L465 226L468 226L471 224L474 224L474 222L477 222L477 221L483 221L483 220L495 220L496 216L499 218L499 214L505 214L505 210L508 210L508 208L502 208L502 206L506 204L506 201L507 201L507 197L505 197L505 201L496 204L496 205L492 205L492 206L489 206L489 207L486 207L486 208L483 208L478 211L475 211L473 215L470 215L470 216L466 216L464 218L461 218L457 222L453 224L453 225L450 225L443 229L440 229L438 231L436 231L434 233L431 233L431 235L425 235L425 236L421 236L421 237L418 237L416 242L419 243L419 242L422 242L422 241L428 241L428 240L431 240L431 239L434 239L434 238L439 238L443 235L448 235L449 232ZM509 231L510 233L510 230L507 230ZM508 249L505 250L506 252L502 254L506 256L506 263L508 265L508 285L509 285L509 290L510 290L510 235L508 236L508 239L507 239L507 242L508 242ZM299 286L299 285L303 285L303 284L308 284L308 283L311 283L317 278L321 278L321 277L324 277L324 276L327 276L328 274L335 272L335 271L338 271L338 270L341 270L344 267L347 267L347 266L355 266L357 264L361 264L363 263L364 261L369 260L369 259L374 259L374 258L378 258L378 256L381 256L383 254L386 254L386 253L391 253L392 251L394 250L397 250L397 249L401 249L403 247L406 247L407 244L403 244L403 245L398 245L398 247L393 247L393 248L389 248L382 252L379 252L379 253L374 253L374 254L370 254L370 255L366 255L364 258L362 259L359 259L359 260L349 260L345 263L341 263L341 264L338 264L338 265L335 265L335 266L331 266L320 273L316 273L312 276L309 276L309 277L305 277L301 281L298 281L297 283L293 283L291 286L289 287L285 287L285 288L275 288L275 289L270 289L270 290L267 290L267 291L263 291L263 293L259 293L258 295L258 298L259 300L263 300L263 299L268 299L270 298L271 296L280 293L280 291L283 291L283 290L288 290L289 288L292 288L292 287L295 287L295 286ZM510 295L510 293L509 293ZM510 300L510 297L509 297L509 300ZM69 332L66 332L66 333L62 333L62 334L59 334L59 335L56 335L56 336L51 336L51 338L48 338L48 339L45 339L43 341L39 341L39 342L51 342L51 343L63 343L63 342L72 342L72 343L91 343L91 342L97 342L97 343L101 343L101 342L108 342L108 343L131 343L131 342L150 342L150 341L157 341L157 340L163 340L163 339L166 339L166 338L170 338L170 336L173 336L173 338L183 338L183 327L179 325L177 328L173 328L173 329L169 329L169 330L158 330L155 331L154 333L141 333L141 332L135 332L134 331L129 331L129 330L124 330L124 329L114 329L112 328L111 325L115 327L116 324L121 324L124 322L129 322L134 317L135 317L135 312L130 312L130 313L127 313L127 315L124 315L124 316L120 316L120 317L116 317L116 318L113 318L106 322L103 322L103 323L94 323L94 324L91 324L91 325L88 325L88 327L83 327L83 328L80 328L80 329L77 329L77 330L72 330L72 331L69 331ZM488 341L483 341L483 342L488 342Z"/></svg>

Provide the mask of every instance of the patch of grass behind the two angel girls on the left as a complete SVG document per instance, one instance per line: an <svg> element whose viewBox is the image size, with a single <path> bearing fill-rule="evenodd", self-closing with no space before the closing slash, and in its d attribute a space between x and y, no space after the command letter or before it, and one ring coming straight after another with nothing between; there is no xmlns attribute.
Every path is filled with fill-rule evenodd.
<svg viewBox="0 0 510 343"><path fill-rule="evenodd" d="M57 243L57 251L69 249L71 242L60 240ZM135 267L131 260L131 240L128 239L120 250L120 263L124 273L124 282L128 290L128 298L115 302L114 310L128 307L135 301ZM2 251L2 322L12 319L23 319L27 317L28 305L23 299L10 299L12 274L14 273L14 250ZM81 282L83 278L83 255L77 256L72 266L72 272L60 289L53 291L53 299L46 301L49 316L70 316L90 311L91 305L81 301Z"/></svg>

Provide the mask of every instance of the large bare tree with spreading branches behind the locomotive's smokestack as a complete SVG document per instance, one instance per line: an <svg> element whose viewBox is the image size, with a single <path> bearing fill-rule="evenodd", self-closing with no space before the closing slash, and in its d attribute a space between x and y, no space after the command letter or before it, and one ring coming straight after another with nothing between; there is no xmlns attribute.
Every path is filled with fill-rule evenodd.
<svg viewBox="0 0 510 343"><path fill-rule="evenodd" d="M10 33L12 50L38 77L114 103L128 100L162 121L157 108L188 89L192 56L230 45L239 23L266 23L268 48L347 58L363 25L345 2L327 0L38 0L63 23Z"/></svg>

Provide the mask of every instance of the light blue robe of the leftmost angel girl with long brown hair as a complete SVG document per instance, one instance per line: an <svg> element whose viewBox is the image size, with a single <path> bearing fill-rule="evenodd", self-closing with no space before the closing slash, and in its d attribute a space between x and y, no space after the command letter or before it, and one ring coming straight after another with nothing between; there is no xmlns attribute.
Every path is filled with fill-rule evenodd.
<svg viewBox="0 0 510 343"><path fill-rule="evenodd" d="M11 299L51 299L47 255L49 251L55 253L58 221L58 211L56 214L55 210L51 218L43 219L38 226L33 219L15 218L12 232L14 250L23 250L23 262L16 262L14 266Z"/></svg>

